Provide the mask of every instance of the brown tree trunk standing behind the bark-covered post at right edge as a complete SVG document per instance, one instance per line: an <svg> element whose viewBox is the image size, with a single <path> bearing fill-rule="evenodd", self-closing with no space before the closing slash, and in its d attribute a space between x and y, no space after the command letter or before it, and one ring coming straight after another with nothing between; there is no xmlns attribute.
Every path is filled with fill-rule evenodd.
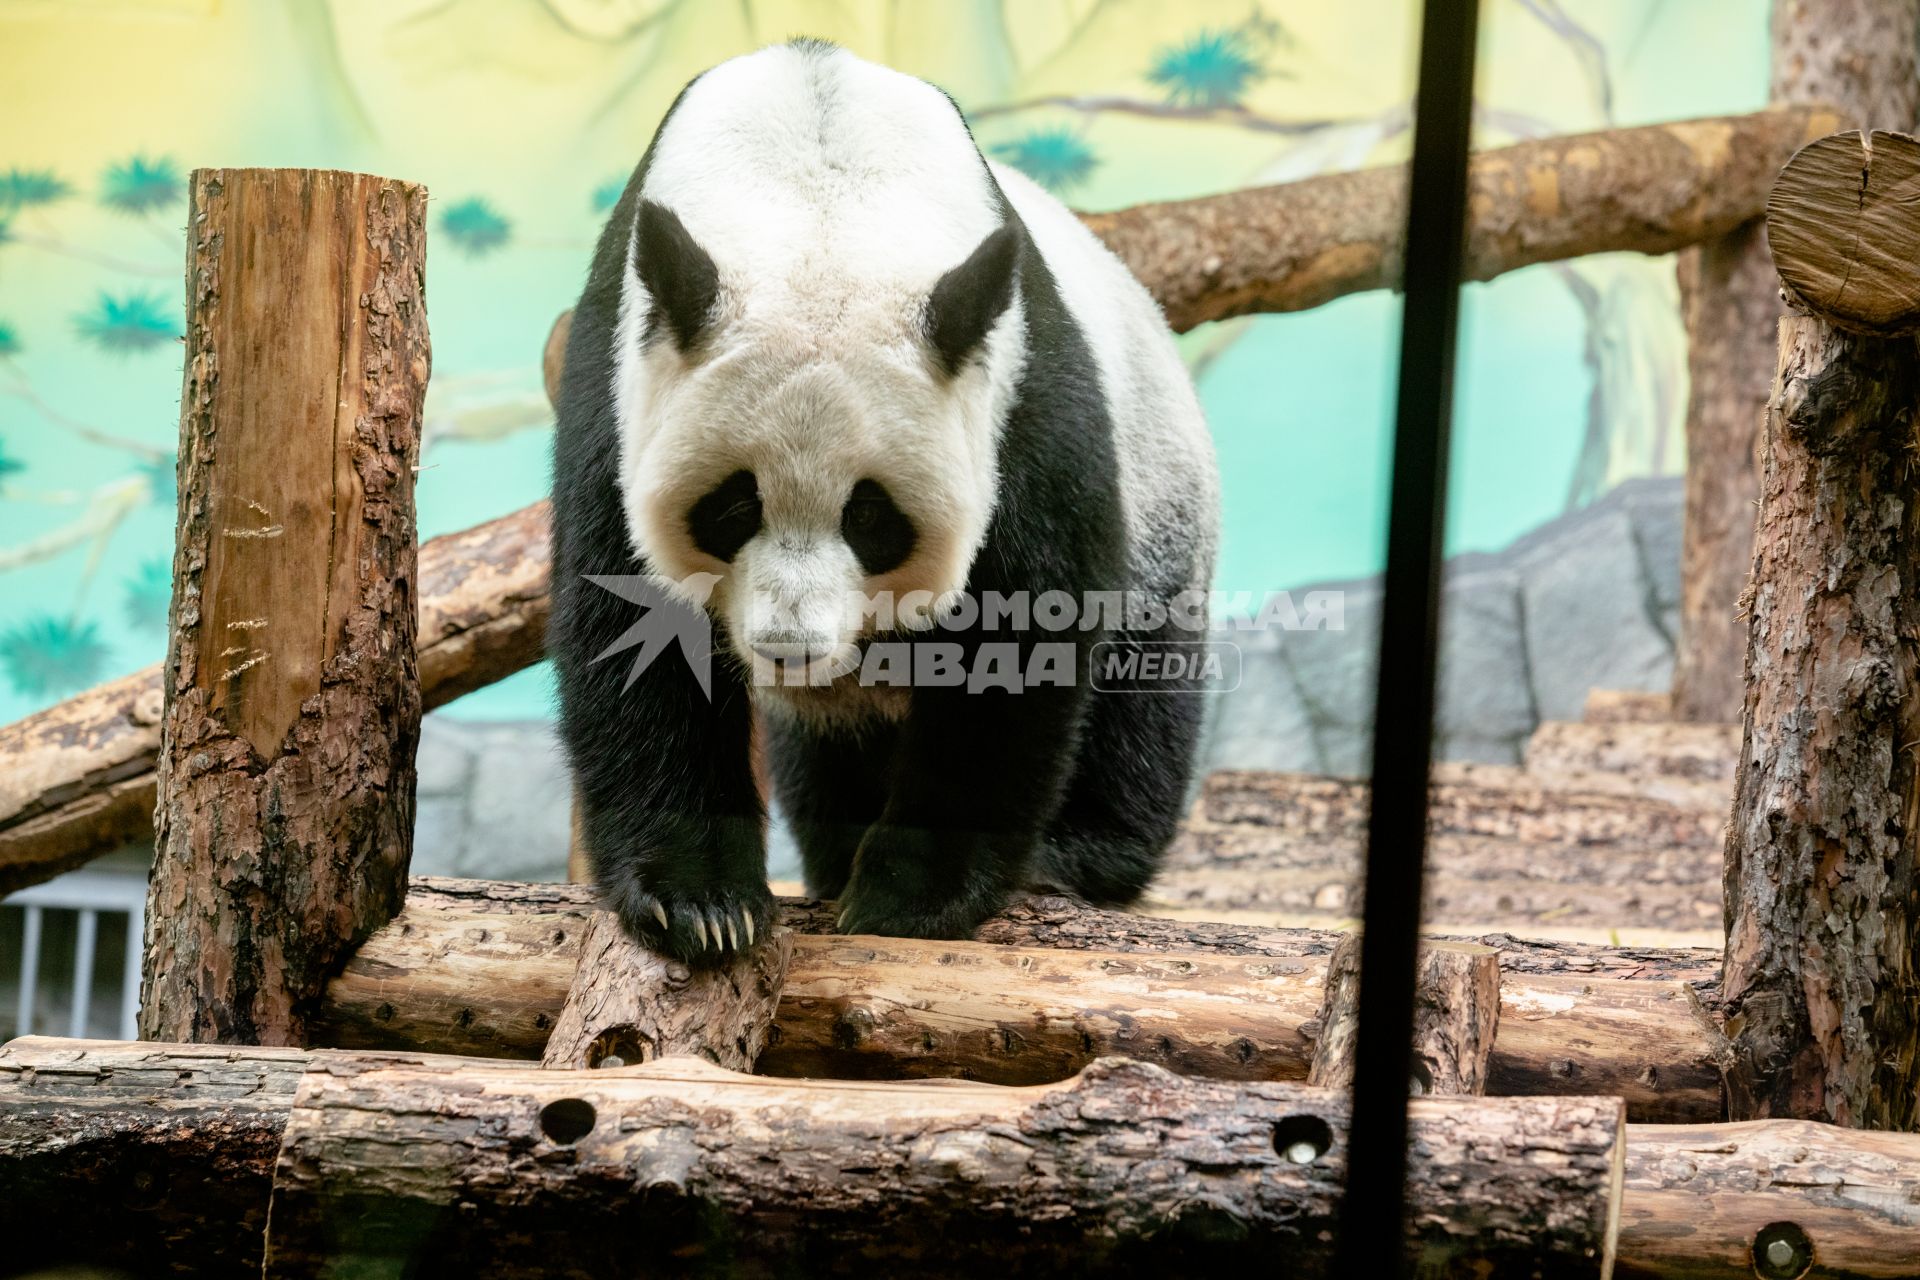
<svg viewBox="0 0 1920 1280"><path fill-rule="evenodd" d="M1839 119L1836 130L1912 130L1920 125L1916 23L1916 0L1776 0L1774 104L1830 104ZM1786 161L1772 157L1768 163L1778 173ZM1740 664L1747 628L1740 601L1753 568L1761 422L1774 372L1778 292L1757 217L1680 259L1692 374L1680 651L1674 660L1674 714L1680 720L1736 722L1745 695Z"/></svg>

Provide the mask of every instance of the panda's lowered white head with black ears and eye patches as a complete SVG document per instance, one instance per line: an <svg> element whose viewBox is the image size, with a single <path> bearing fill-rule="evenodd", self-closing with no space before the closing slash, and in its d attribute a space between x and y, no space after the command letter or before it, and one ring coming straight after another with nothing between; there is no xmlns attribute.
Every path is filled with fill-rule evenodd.
<svg viewBox="0 0 1920 1280"><path fill-rule="evenodd" d="M1006 213L952 259L852 276L735 271L651 200L618 324L622 487L639 555L756 677L820 683L858 641L966 585L1023 355L1027 236ZM695 599L689 593L689 599Z"/></svg>

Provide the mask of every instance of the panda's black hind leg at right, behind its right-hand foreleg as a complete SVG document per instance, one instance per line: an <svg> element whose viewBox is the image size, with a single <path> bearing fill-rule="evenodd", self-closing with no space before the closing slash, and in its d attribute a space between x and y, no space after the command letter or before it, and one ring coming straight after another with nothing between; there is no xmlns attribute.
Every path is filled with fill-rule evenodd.
<svg viewBox="0 0 1920 1280"><path fill-rule="evenodd" d="M1100 906L1140 896L1179 829L1204 697L1188 685L1096 685L1073 779L1035 858L1037 885Z"/></svg>

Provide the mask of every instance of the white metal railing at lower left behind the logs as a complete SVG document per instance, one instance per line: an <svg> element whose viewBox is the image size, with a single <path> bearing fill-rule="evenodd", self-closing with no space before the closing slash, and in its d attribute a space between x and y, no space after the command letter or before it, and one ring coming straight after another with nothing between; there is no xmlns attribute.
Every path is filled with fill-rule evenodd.
<svg viewBox="0 0 1920 1280"><path fill-rule="evenodd" d="M146 929L146 877L106 867L83 867L67 875L35 885L12 894L0 912L21 913L21 946L17 965L17 1000L13 1004L12 1034L65 1032L69 1036L92 1036L94 1031L94 973L104 950L102 923L119 929L121 977L117 988L119 1011L113 1021L121 1040L132 1040L140 1021L140 940ZM56 990L42 990L46 969L44 938L48 912L73 913L73 965L67 981ZM4 967L0 958L0 967ZM42 1000L52 994L63 996L65 1025L46 1017Z"/></svg>

